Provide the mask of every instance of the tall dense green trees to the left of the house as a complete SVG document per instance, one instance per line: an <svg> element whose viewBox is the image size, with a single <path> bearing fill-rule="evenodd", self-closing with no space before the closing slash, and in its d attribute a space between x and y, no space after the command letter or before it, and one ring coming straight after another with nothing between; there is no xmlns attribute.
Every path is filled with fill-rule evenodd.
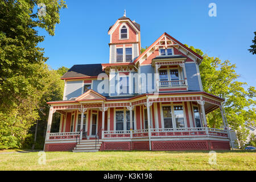
<svg viewBox="0 0 256 182"><path fill-rule="evenodd" d="M46 16L33 12L39 3L46 5ZM45 64L48 58L43 48L38 47L44 37L35 28L54 35L59 11L65 7L63 0L0 1L0 148L21 146L39 119L53 71Z"/></svg>

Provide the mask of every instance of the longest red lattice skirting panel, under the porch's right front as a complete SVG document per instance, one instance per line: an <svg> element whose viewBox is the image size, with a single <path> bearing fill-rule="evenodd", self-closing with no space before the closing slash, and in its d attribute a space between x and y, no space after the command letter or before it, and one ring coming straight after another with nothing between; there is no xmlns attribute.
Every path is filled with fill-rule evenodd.
<svg viewBox="0 0 256 182"><path fill-rule="evenodd" d="M206 140L192 141L152 141L153 151L209 150Z"/></svg>

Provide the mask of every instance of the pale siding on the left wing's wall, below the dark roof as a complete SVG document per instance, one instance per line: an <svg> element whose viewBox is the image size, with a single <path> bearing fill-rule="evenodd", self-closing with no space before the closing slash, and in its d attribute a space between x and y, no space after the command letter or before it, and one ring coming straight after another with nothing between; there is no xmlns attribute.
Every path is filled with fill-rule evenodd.
<svg viewBox="0 0 256 182"><path fill-rule="evenodd" d="M67 81L65 100L72 97L79 97L82 94L82 81Z"/></svg>

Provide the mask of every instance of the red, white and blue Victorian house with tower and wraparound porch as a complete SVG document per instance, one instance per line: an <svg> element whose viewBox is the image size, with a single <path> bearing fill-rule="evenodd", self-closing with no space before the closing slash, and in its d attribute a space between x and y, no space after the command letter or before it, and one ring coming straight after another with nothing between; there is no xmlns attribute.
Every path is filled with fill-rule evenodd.
<svg viewBox="0 0 256 182"><path fill-rule="evenodd" d="M110 26L109 63L73 65L50 106L45 151L230 150L222 98L203 90L203 57L164 33L141 53L140 25ZM223 130L205 115L220 108ZM51 133L53 113L61 114Z"/></svg>

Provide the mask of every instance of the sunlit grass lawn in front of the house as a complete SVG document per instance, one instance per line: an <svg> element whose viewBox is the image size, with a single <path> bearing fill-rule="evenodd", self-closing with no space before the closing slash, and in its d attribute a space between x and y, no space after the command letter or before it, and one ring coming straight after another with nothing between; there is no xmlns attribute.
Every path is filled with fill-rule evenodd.
<svg viewBox="0 0 256 182"><path fill-rule="evenodd" d="M0 152L0 170L256 170L255 151Z"/></svg>

